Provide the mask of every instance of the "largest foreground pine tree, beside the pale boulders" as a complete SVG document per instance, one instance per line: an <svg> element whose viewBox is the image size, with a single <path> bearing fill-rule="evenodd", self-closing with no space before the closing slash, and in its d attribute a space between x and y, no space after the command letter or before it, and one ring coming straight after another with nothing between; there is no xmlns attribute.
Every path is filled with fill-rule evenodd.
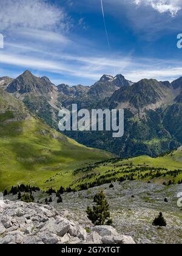
<svg viewBox="0 0 182 256"><path fill-rule="evenodd" d="M86 213L90 221L95 225L111 225L112 219L110 218L109 204L103 191L97 193L93 199L96 205L93 209L87 207Z"/></svg>

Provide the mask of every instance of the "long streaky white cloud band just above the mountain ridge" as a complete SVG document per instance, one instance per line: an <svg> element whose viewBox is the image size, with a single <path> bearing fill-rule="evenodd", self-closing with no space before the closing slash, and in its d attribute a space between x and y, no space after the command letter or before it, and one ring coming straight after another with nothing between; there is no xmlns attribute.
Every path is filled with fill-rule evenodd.
<svg viewBox="0 0 182 256"><path fill-rule="evenodd" d="M48 59L48 58L47 58ZM21 68L29 68L55 73L59 76L62 74L72 79L87 79L95 82L104 73L112 74L113 67L116 73L122 73L127 79L137 82L143 78L153 78L158 80L174 80L182 74L180 63L175 60L158 59L136 59L132 57L118 56L113 57L80 57L78 55L62 55L55 60L46 60L37 57L27 57L18 54L0 54L0 63L6 65L15 65ZM72 63L72 64L70 64ZM169 65L170 63L170 65ZM113 74L112 74L113 75ZM55 79L57 84L64 80ZM74 82L71 84L75 84Z"/></svg>

